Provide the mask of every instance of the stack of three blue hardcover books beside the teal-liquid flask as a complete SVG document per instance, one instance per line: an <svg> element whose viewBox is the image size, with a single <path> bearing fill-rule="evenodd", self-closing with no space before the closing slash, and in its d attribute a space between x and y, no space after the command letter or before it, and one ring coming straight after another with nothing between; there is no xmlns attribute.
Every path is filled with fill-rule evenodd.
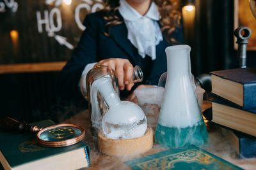
<svg viewBox="0 0 256 170"><path fill-rule="evenodd" d="M212 120L241 157L256 157L256 68L211 72Z"/></svg>

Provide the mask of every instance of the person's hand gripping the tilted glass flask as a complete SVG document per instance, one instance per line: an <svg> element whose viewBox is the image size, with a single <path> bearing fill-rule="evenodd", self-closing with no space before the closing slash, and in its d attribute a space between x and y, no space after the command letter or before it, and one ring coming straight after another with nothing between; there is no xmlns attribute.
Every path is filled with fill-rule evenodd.
<svg viewBox="0 0 256 170"><path fill-rule="evenodd" d="M118 85L120 90L131 90L134 83L129 83L132 78L133 66L127 59L111 58L100 60L94 67L97 66L109 66L115 71L115 75L118 78Z"/></svg>

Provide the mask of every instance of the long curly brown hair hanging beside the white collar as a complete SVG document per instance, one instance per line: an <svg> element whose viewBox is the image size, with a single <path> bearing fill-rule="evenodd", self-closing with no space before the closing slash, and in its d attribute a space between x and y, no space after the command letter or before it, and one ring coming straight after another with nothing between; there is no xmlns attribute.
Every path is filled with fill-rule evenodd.
<svg viewBox="0 0 256 170"><path fill-rule="evenodd" d="M180 0L152 0L156 3L161 19L159 20L160 24L163 26L161 30L163 31L164 37L168 42L176 42L172 38L172 32L175 30L175 27L180 25ZM104 3L104 20L107 20L108 23L104 26L106 36L110 36L111 27L121 24L122 20L118 18L115 13L118 10L119 0L103 0Z"/></svg>

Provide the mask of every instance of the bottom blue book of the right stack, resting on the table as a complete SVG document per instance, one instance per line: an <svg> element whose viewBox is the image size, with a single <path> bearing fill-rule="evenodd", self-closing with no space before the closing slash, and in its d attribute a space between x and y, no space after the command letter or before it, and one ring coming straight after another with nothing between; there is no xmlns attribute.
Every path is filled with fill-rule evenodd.
<svg viewBox="0 0 256 170"><path fill-rule="evenodd" d="M236 150L239 157L256 157L256 138L250 138L225 128L221 128L221 133L229 139L232 148Z"/></svg>

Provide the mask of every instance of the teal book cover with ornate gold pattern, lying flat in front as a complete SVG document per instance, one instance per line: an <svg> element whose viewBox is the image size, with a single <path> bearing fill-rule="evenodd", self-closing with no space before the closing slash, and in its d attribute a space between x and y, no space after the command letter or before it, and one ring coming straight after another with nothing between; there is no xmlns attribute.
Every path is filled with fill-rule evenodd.
<svg viewBox="0 0 256 170"><path fill-rule="evenodd" d="M196 146L172 148L125 162L132 169L241 169Z"/></svg>

